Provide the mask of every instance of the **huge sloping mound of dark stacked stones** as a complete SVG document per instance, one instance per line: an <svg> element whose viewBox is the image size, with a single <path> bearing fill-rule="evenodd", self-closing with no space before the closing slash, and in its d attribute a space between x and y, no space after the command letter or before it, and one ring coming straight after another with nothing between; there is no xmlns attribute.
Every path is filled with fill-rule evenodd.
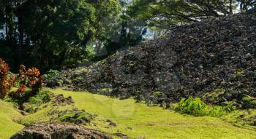
<svg viewBox="0 0 256 139"><path fill-rule="evenodd" d="M211 101L242 103L256 96L256 9L175 28L62 76L75 90L120 98L168 103L224 90Z"/></svg>

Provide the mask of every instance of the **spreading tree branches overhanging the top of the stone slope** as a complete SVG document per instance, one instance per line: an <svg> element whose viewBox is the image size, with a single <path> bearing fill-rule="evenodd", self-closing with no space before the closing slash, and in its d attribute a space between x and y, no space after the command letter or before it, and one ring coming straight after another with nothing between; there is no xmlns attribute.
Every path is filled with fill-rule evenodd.
<svg viewBox="0 0 256 139"><path fill-rule="evenodd" d="M238 9L244 12L255 3L255 0L135 0L129 7L129 14L146 20L148 25L170 29L184 23L232 15Z"/></svg>

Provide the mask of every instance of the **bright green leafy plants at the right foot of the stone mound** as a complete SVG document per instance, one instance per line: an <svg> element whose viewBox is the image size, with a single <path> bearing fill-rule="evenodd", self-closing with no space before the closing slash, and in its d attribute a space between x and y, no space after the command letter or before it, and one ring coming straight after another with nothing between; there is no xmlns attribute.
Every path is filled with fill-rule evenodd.
<svg viewBox="0 0 256 139"><path fill-rule="evenodd" d="M176 107L176 111L182 114L191 114L194 116L222 116L227 112L234 111L236 108L233 106L208 106L200 98L184 98Z"/></svg>

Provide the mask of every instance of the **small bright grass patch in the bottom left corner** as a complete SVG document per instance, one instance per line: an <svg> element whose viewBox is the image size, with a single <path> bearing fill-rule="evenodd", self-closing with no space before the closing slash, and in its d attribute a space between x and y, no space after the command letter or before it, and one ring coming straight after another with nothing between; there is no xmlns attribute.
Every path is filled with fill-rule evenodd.
<svg viewBox="0 0 256 139"><path fill-rule="evenodd" d="M20 117L12 105L0 100L0 139L10 138L15 132L23 129L22 125L15 122Z"/></svg>

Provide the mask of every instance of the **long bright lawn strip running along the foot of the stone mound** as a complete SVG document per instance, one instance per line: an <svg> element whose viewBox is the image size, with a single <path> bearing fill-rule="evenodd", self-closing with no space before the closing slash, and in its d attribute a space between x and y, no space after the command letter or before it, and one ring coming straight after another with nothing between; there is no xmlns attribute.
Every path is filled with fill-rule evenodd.
<svg viewBox="0 0 256 139"><path fill-rule="evenodd" d="M255 130L234 127L221 119L208 116L183 116L159 107L147 107L134 100L118 100L86 92L51 90L72 96L75 106L98 114L98 126L89 126L109 133L121 132L131 138L256 138ZM102 119L111 119L117 127Z"/></svg>

